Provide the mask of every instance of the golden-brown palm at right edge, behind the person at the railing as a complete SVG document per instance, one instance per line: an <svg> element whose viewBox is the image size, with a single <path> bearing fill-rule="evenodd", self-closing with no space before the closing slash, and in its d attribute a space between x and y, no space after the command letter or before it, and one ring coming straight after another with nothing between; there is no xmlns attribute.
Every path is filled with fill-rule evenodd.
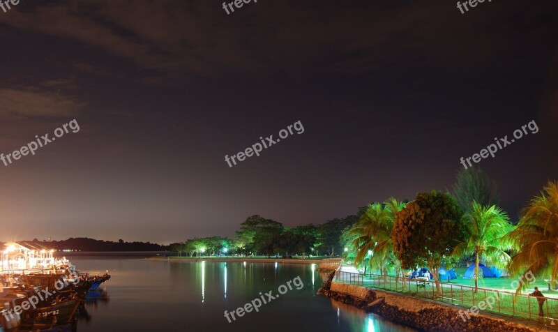
<svg viewBox="0 0 558 332"><path fill-rule="evenodd" d="M518 253L509 266L510 273L548 276L554 287L558 273L558 183L548 181L540 196L523 210L517 228L509 234ZM524 286L520 283L517 292Z"/></svg>

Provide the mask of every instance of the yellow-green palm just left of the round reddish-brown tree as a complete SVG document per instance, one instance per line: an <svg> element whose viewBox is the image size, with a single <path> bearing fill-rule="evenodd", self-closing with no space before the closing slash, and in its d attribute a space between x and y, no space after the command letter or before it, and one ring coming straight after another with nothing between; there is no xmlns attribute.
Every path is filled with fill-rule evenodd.
<svg viewBox="0 0 558 332"><path fill-rule="evenodd" d="M367 206L365 213L349 233L358 235L353 241L353 246L358 249L355 265L369 259L370 267L378 266L384 276L387 275L389 265L394 265L395 272L399 275L400 264L393 252L391 231L395 213L401 211L403 206L405 204L395 198L388 199L384 204L374 203Z"/></svg>

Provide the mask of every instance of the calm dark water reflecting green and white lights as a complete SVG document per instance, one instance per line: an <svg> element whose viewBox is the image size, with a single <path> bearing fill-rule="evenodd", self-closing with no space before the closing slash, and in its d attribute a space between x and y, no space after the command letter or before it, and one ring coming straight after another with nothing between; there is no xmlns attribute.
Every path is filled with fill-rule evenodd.
<svg viewBox="0 0 558 332"><path fill-rule="evenodd" d="M82 271L112 279L86 304L78 332L89 331L413 331L316 295L323 275L299 264L158 262L70 257ZM233 311L300 276L288 290L229 323ZM265 296L267 299L267 296Z"/></svg>

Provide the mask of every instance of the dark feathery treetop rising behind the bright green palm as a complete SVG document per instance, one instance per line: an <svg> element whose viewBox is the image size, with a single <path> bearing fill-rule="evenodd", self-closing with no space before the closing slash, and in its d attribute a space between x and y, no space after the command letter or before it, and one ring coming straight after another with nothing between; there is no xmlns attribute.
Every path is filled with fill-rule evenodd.
<svg viewBox="0 0 558 332"><path fill-rule="evenodd" d="M459 172L457 183L452 189L462 211L469 211L473 202L483 206L492 206L499 203L496 182L490 180L477 166Z"/></svg>

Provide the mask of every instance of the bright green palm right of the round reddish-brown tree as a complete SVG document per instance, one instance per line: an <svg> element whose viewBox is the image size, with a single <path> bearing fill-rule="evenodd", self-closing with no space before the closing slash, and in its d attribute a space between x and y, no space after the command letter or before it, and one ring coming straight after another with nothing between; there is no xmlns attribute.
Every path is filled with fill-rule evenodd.
<svg viewBox="0 0 558 332"><path fill-rule="evenodd" d="M467 241L461 242L453 249L452 255L463 257L474 255L475 290L478 288L478 264L481 259L499 266L506 264L510 257L505 250L511 249L511 241L504 241L504 236L513 230L508 215L497 206L482 206L473 201L472 208L463 216L467 228Z"/></svg>

